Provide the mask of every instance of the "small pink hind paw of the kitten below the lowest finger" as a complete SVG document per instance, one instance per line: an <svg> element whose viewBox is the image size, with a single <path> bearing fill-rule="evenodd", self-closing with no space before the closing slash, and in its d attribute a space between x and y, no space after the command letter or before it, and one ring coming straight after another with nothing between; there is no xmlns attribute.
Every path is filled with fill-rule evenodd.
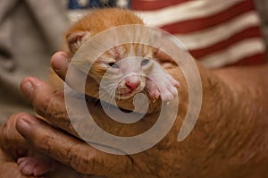
<svg viewBox="0 0 268 178"><path fill-rule="evenodd" d="M38 160L36 157L21 157L17 160L22 174L40 176L54 170L53 160Z"/></svg>

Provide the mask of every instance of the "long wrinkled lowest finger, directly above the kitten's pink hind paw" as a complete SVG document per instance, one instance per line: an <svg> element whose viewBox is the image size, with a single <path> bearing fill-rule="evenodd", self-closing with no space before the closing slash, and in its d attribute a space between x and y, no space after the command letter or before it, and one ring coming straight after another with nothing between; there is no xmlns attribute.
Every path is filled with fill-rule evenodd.
<svg viewBox="0 0 268 178"><path fill-rule="evenodd" d="M130 169L129 157L98 151L35 117L18 119L16 127L33 148L65 165L71 165L79 173L112 177Z"/></svg>

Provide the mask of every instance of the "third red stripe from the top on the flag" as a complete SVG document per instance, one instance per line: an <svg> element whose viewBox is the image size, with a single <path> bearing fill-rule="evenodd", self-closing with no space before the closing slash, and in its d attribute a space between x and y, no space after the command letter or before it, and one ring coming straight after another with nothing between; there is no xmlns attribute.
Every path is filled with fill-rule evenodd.
<svg viewBox="0 0 268 178"><path fill-rule="evenodd" d="M222 49L230 47L231 45L238 43L239 41L243 39L255 38L255 37L263 38L259 27L253 27L247 30L243 30L222 42L213 44L210 47L190 50L189 53L197 58L200 58L204 55L208 55L210 53L221 51Z"/></svg>

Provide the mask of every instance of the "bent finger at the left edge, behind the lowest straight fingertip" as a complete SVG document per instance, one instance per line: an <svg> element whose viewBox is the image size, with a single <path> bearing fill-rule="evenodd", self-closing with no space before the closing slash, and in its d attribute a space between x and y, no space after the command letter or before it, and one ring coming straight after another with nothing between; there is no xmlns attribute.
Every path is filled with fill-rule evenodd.
<svg viewBox="0 0 268 178"><path fill-rule="evenodd" d="M11 115L0 128L0 146L4 151L7 151L13 159L25 155L29 150L29 144L21 137L21 134L15 127L17 119L22 115L25 114Z"/></svg>

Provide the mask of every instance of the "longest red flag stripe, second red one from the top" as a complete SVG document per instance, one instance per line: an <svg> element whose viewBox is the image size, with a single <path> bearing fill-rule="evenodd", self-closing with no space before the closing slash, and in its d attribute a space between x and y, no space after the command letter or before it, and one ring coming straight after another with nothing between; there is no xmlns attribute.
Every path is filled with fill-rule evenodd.
<svg viewBox="0 0 268 178"><path fill-rule="evenodd" d="M161 28L172 34L183 34L213 27L219 23L230 21L239 14L246 13L251 10L254 10L254 4L252 1L241 1L241 3L235 4L229 9L221 13L214 14L213 16L198 18L190 21L180 21L165 25Z"/></svg>

